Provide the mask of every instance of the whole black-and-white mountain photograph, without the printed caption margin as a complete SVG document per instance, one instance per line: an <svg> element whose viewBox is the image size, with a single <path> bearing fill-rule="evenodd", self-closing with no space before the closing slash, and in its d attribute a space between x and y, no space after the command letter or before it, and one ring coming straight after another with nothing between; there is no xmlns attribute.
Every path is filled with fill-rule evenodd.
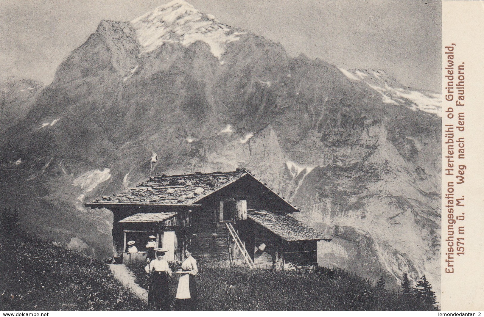
<svg viewBox="0 0 484 317"><path fill-rule="evenodd" d="M440 0L1 1L0 310L439 311L442 53Z"/></svg>

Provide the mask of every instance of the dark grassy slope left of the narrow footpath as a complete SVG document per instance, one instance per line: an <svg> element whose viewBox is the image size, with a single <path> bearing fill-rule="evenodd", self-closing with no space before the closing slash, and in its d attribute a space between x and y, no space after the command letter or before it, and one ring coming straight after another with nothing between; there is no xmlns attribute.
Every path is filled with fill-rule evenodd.
<svg viewBox="0 0 484 317"><path fill-rule="evenodd" d="M114 279L109 268L32 238L1 237L3 311L139 311L146 304Z"/></svg>

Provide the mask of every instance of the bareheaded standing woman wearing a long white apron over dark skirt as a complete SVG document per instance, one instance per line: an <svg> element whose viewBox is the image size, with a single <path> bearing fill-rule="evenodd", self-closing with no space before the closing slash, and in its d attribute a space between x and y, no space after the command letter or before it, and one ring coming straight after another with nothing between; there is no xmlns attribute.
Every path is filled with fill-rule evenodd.
<svg viewBox="0 0 484 317"><path fill-rule="evenodd" d="M197 309L197 286L195 275L198 273L197 260L192 257L192 250L185 249L186 259L181 263L181 270L176 273L180 274L177 289L177 310L192 311Z"/></svg>

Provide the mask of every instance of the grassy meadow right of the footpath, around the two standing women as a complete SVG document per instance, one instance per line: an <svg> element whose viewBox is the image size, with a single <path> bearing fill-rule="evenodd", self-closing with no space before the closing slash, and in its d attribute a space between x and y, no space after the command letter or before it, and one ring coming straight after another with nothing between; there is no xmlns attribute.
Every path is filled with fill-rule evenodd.
<svg viewBox="0 0 484 317"><path fill-rule="evenodd" d="M136 282L148 289L145 263L130 264ZM172 265L172 270L177 270ZM251 271L198 263L198 310L201 311L397 311L423 309L417 298L379 289L375 284L341 269L316 272ZM178 284L170 278L172 306Z"/></svg>

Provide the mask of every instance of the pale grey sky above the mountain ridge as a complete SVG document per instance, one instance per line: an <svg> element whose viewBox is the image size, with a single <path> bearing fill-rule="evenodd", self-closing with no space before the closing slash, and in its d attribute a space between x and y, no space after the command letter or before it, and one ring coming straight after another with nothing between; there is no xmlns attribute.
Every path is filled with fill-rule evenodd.
<svg viewBox="0 0 484 317"><path fill-rule="evenodd" d="M102 19L131 21L168 1L3 0L0 79L50 83ZM404 85L440 91L439 0L191 0L221 23L280 42L291 56L345 69L384 69Z"/></svg>

